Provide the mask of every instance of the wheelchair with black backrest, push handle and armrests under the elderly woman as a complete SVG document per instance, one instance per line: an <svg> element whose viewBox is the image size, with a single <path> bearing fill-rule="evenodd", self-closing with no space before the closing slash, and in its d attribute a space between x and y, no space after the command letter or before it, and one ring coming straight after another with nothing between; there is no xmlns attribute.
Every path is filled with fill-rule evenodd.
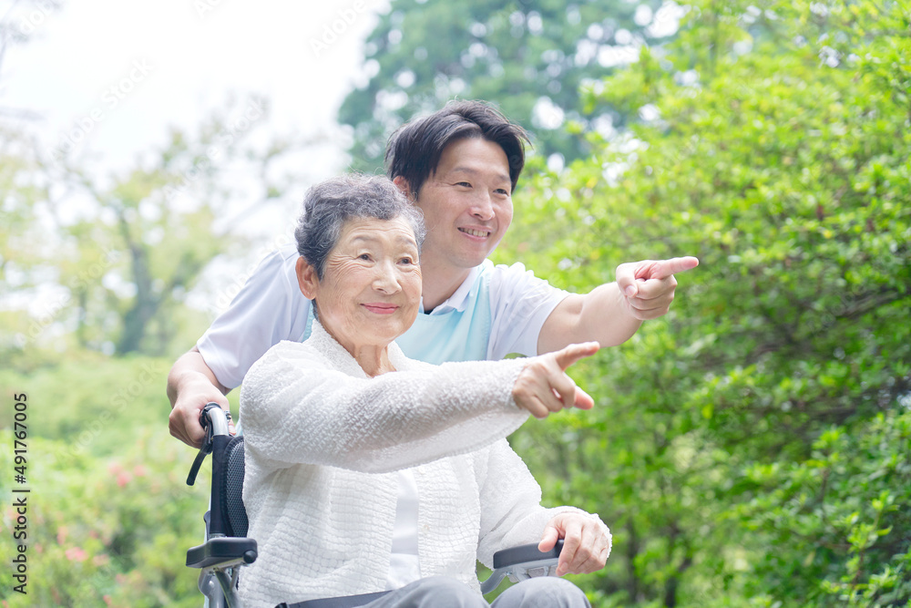
<svg viewBox="0 0 911 608"><path fill-rule="evenodd" d="M209 608L242 608L238 582L243 566L256 561L256 541L247 538L247 511L242 500L243 436L231 437L228 418L217 403L207 404L200 413L206 430L202 448L189 471L187 485L196 482L203 460L212 455L210 510L206 522L205 543L187 551L187 566L200 570L200 593L209 600ZM537 544L512 547L494 553L494 570L481 582L481 593L491 593L507 576L522 581L532 575L550 575L557 569L563 541L550 551L538 551ZM344 597L280 603L276 608L355 608L370 603L388 592L366 593ZM292 600L293 598L289 598Z"/></svg>

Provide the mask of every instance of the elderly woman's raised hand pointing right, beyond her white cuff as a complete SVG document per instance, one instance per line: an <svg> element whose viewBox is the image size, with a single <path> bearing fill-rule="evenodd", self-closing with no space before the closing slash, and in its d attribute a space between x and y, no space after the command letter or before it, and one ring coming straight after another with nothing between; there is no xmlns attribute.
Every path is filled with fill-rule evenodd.
<svg viewBox="0 0 911 608"><path fill-rule="evenodd" d="M547 355L533 356L513 385L516 405L532 416L546 418L564 407L591 409L595 405L589 394L576 386L566 374L568 366L598 352L597 342L568 345Z"/></svg>

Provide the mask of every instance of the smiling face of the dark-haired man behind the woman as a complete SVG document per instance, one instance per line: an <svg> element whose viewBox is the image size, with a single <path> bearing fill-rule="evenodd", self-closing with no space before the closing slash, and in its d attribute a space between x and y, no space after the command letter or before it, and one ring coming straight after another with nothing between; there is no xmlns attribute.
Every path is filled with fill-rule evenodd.
<svg viewBox="0 0 911 608"><path fill-rule="evenodd" d="M422 263L463 271L493 252L512 222L512 182L506 152L486 139L446 146L418 193L427 237Z"/></svg>

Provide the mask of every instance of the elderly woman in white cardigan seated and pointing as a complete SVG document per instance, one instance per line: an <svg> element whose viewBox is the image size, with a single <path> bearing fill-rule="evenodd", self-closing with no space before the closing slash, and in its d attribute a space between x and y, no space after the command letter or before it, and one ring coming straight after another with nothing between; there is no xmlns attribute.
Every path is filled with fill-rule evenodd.
<svg viewBox="0 0 911 608"><path fill-rule="evenodd" d="M394 339L421 300L419 211L384 178L343 177L308 192L298 278L317 321L281 342L241 391L243 499L260 558L241 576L249 606L390 591L371 608L486 606L476 560L558 538L559 575L603 567L597 515L545 509L506 437L529 413L592 406L566 376L598 345L528 359L431 366ZM522 582L495 602L586 606L563 579Z"/></svg>

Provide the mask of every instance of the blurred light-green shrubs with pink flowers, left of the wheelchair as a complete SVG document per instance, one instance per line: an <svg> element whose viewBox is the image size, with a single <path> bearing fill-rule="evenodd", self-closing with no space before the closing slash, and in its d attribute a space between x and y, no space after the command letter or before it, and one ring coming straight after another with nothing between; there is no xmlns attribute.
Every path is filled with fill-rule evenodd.
<svg viewBox="0 0 911 608"><path fill-rule="evenodd" d="M196 451L167 430L170 364L87 353L26 375L0 371L5 403L25 392L28 404L28 595L5 585L0 599L11 607L200 605L198 572L184 562L202 540L210 466L196 486L186 485ZM15 551L13 410L2 412L0 467L10 475L0 480L0 559L7 562Z"/></svg>

